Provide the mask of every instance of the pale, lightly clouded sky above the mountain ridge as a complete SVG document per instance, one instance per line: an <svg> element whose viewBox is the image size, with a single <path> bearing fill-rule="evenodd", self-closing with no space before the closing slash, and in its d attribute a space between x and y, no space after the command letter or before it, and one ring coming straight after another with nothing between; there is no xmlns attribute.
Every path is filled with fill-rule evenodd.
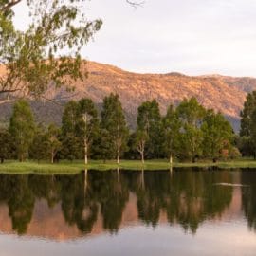
<svg viewBox="0 0 256 256"><path fill-rule="evenodd" d="M83 10L103 26L82 57L139 73L256 77L255 0L90 0ZM15 22L24 26L24 6Z"/></svg>

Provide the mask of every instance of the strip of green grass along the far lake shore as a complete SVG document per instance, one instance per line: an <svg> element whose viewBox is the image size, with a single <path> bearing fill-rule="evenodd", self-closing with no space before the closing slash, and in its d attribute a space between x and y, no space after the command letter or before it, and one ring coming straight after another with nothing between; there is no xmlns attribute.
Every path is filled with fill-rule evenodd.
<svg viewBox="0 0 256 256"><path fill-rule="evenodd" d="M217 163L212 163L212 161L200 161L197 163L178 163L174 162L174 167L219 167L219 168L256 168L256 161L253 159L239 159L233 161L220 161ZM7 161L4 164L0 164L1 174L77 174L84 169L94 169L94 170L110 170L110 169L122 169L122 170L168 170L170 169L170 164L167 160L149 160L146 161L144 166L142 166L140 161L137 160L122 160L118 165L115 161L107 161L103 163L102 161L90 161L90 163L85 166L82 161L62 161L56 164L50 164L47 162L42 162L38 164L37 162L27 161L20 163L17 161Z"/></svg>

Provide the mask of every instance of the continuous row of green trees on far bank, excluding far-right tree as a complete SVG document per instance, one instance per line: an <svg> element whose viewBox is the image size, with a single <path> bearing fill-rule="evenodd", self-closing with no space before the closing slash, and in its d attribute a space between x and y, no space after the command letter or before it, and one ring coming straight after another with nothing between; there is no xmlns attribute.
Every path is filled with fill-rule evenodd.
<svg viewBox="0 0 256 256"><path fill-rule="evenodd" d="M255 133L256 134L256 133ZM256 137L256 136L255 136ZM24 161L49 159L173 158L178 160L233 158L240 155L234 133L221 113L204 108L195 98L185 99L160 114L157 101L137 109L137 128L128 129L119 96L110 94L101 115L90 99L69 101L62 126L35 123L27 101L17 101L9 127L0 131L0 158Z"/></svg>

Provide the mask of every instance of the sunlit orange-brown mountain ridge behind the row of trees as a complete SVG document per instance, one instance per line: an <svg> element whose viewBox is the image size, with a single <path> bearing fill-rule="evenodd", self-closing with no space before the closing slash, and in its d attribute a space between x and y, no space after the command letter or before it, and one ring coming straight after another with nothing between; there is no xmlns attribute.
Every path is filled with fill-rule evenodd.
<svg viewBox="0 0 256 256"><path fill-rule="evenodd" d="M82 97L91 98L101 109L102 99L111 92L118 93L131 127L135 127L137 106L142 101L156 99L162 114L170 103L178 104L184 98L196 97L207 108L222 112L239 130L239 114L247 93L256 89L256 79L236 78L220 75L186 76L180 73L138 74L124 71L109 64L87 62L82 71L88 71L88 78L74 82L74 92L64 88L50 88L48 98L62 101L62 105L49 101L32 101L31 104L40 121L60 123L63 104ZM0 119L9 118L11 104L0 106Z"/></svg>

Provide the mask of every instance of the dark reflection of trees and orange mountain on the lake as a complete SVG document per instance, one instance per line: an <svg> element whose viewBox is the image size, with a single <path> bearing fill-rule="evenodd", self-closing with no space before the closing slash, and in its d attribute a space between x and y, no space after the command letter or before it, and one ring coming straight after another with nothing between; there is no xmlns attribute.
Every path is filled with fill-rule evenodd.
<svg viewBox="0 0 256 256"><path fill-rule="evenodd" d="M234 190L242 192L248 225L256 230L254 176L252 172L199 170L84 171L51 176L1 174L0 231L32 235L32 229L45 225L45 229L37 229L37 235L61 239L69 229L69 236L75 238L102 231L117 233L128 220L152 227L159 223L180 225L184 231L196 233L206 220L222 219L229 210ZM250 186L214 185L237 182ZM54 216L58 221L50 222L48 219ZM11 230L4 227L8 221ZM46 229L47 223L54 225Z"/></svg>

